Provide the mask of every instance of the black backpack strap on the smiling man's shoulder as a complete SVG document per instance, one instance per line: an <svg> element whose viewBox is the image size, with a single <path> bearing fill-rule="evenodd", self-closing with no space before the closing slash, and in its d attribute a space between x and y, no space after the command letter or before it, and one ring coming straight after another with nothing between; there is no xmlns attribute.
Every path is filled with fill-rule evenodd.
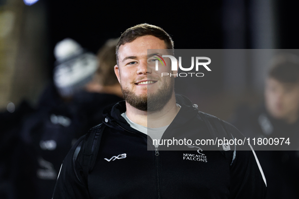
<svg viewBox="0 0 299 199"><path fill-rule="evenodd" d="M106 125L99 124L89 130L82 146L81 165L84 179L88 183L88 174L93 170L100 148L100 142Z"/></svg>

